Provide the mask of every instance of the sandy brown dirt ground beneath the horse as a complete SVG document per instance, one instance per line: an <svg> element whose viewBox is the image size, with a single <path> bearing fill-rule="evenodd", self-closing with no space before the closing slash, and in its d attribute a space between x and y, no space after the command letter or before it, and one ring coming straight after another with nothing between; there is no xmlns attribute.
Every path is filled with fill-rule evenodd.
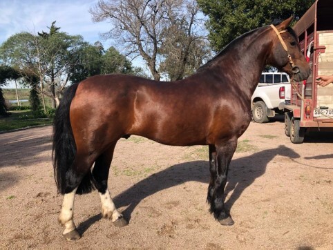
<svg viewBox="0 0 333 250"><path fill-rule="evenodd" d="M75 198L82 238L57 222L52 127L0 135L0 249L333 249L333 134L292 144L283 121L251 123L238 141L223 227L206 203L207 147L118 142L108 185L129 226L101 218L95 191Z"/></svg>

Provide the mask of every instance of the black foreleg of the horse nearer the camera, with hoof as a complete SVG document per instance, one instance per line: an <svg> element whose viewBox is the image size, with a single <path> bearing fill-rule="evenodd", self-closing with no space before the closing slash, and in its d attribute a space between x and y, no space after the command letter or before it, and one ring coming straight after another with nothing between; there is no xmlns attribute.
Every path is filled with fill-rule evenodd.
<svg viewBox="0 0 333 250"><path fill-rule="evenodd" d="M234 224L234 220L231 219L229 212L225 209L224 193L229 165L236 147L236 138L216 145L216 180L211 202L211 213L220 224L228 226Z"/></svg>

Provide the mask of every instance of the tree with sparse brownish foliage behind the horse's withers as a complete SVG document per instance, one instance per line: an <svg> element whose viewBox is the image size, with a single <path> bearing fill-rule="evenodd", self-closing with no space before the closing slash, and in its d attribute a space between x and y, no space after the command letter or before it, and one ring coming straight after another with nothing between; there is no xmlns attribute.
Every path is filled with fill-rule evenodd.
<svg viewBox="0 0 333 250"><path fill-rule="evenodd" d="M196 30L195 27L200 13L198 5L194 1L187 1L182 12L183 15L179 12L169 14L169 35L160 49L164 56L160 63L160 71L167 73L171 81L192 75L202 62L211 56L205 36L200 35L202 30Z"/></svg>

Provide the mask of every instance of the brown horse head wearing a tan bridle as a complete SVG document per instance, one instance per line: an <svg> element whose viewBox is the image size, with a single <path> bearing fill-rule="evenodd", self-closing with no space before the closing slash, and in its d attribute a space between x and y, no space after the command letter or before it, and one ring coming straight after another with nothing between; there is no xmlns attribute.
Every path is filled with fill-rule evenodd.
<svg viewBox="0 0 333 250"><path fill-rule="evenodd" d="M289 17L276 26L271 25L274 43L267 64L287 73L295 81L302 81L309 77L310 65L301 51L296 33L289 27L292 19Z"/></svg>

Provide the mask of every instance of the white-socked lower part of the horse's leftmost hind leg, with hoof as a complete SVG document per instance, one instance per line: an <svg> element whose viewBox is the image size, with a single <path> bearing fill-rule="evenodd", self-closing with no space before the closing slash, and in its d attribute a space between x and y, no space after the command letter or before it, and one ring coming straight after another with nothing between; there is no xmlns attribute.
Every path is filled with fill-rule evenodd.
<svg viewBox="0 0 333 250"><path fill-rule="evenodd" d="M81 235L79 235L79 232L77 231L73 221L74 198L76 191L77 188L75 188L72 192L66 193L64 195L64 201L62 202L61 211L58 218L59 223L65 227L62 235L64 235L66 240L78 240L81 238Z"/></svg>

